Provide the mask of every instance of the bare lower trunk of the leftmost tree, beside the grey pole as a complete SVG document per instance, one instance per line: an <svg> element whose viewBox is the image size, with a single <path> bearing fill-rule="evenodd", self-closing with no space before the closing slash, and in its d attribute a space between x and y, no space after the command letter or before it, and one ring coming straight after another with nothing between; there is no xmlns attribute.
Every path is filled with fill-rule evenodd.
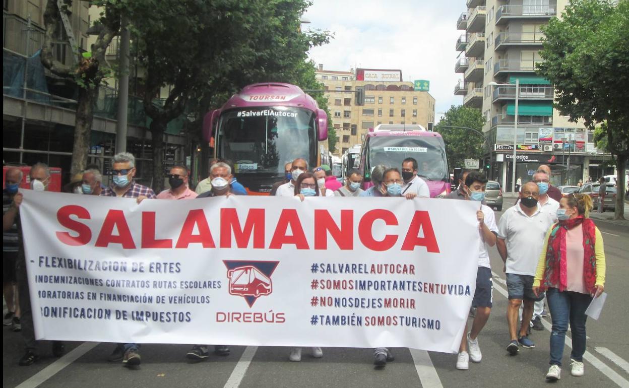
<svg viewBox="0 0 629 388"><path fill-rule="evenodd" d="M92 121L94 121L94 103L97 96L98 86L91 89L79 88L74 122L74 147L72 148L72 164L70 166L72 175L82 172L87 165Z"/></svg>

